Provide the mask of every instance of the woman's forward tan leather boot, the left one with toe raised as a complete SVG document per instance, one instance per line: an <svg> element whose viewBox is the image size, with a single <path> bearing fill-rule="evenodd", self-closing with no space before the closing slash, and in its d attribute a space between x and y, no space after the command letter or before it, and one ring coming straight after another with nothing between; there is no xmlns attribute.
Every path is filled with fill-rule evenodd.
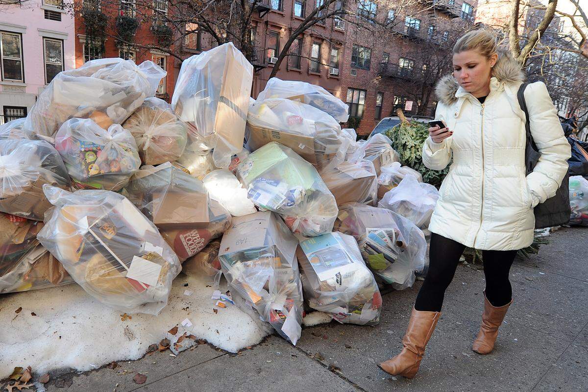
<svg viewBox="0 0 588 392"><path fill-rule="evenodd" d="M439 317L439 311L419 311L413 307L406 334L402 338L404 348L396 357L377 366L392 376L415 377Z"/></svg>

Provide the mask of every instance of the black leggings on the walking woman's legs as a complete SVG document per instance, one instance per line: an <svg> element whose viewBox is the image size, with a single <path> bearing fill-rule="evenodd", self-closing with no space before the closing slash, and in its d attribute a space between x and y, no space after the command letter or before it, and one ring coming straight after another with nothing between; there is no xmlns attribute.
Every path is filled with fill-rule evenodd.
<svg viewBox="0 0 588 392"><path fill-rule="evenodd" d="M431 234L429 270L416 297L416 310L441 311L445 290L453 280L459 257L462 256L464 249L465 245L459 242L436 233ZM503 306L512 300L509 271L516 253L516 250L482 251L486 298L493 306Z"/></svg>

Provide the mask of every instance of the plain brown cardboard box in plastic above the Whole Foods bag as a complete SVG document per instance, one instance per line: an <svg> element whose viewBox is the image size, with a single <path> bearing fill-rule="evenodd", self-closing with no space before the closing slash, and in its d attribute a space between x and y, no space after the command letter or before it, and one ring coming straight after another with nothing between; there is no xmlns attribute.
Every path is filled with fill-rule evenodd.
<svg viewBox="0 0 588 392"><path fill-rule="evenodd" d="M206 227L208 195L200 192L153 192L153 223L162 229Z"/></svg>

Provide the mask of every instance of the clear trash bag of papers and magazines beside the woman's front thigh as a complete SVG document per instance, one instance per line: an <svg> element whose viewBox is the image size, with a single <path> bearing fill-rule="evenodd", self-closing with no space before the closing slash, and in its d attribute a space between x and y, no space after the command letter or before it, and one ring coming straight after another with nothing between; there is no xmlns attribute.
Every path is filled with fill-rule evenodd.
<svg viewBox="0 0 588 392"><path fill-rule="evenodd" d="M377 229L385 230L382 233ZM425 270L428 255L425 234L393 211L348 203L339 207L334 230L355 237L369 268L396 290L412 286L415 273Z"/></svg>

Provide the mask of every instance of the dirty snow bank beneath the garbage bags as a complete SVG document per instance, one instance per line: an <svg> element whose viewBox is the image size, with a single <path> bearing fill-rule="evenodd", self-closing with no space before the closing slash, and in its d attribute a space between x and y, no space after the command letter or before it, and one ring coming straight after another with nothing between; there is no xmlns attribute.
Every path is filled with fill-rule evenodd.
<svg viewBox="0 0 588 392"><path fill-rule="evenodd" d="M136 360L185 319L193 324L186 328L191 334L231 352L273 333L258 314L236 305L214 313L214 289L206 286L203 278L181 274L173 282L168 306L158 316L131 314L132 319L124 321L123 312L99 303L77 284L3 295L0 379L15 366L31 366L36 374L44 374L57 368L83 371L112 361ZM19 307L22 310L16 313Z"/></svg>

